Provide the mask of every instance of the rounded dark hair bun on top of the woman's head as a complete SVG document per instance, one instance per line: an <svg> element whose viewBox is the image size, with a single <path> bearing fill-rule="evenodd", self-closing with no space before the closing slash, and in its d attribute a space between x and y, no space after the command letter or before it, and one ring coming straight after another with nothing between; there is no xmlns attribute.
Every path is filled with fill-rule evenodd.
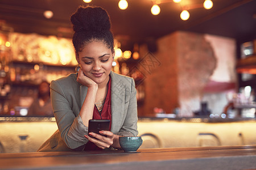
<svg viewBox="0 0 256 170"><path fill-rule="evenodd" d="M73 30L80 31L109 31L110 19L108 13L101 7L80 6L71 16Z"/></svg>

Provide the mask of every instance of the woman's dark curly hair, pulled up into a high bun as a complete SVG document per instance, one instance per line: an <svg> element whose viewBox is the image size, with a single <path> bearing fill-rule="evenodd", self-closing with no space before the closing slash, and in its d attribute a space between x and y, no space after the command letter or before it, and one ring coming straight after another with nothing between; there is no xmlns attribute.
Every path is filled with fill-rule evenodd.
<svg viewBox="0 0 256 170"><path fill-rule="evenodd" d="M114 52L114 38L110 31L109 14L104 8L96 6L79 6L71 16L73 24L73 45L80 52L84 45L92 41L104 42Z"/></svg>

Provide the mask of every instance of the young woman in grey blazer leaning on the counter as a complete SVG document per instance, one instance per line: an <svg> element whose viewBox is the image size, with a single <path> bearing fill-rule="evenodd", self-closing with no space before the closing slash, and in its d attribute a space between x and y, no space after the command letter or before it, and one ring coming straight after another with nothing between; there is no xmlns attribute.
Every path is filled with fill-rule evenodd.
<svg viewBox="0 0 256 170"><path fill-rule="evenodd" d="M134 80L111 71L114 39L109 15L101 7L80 6L71 22L81 69L51 82L59 129L38 151L120 148L120 135L138 135L137 99ZM110 120L110 130L88 134L90 119Z"/></svg>

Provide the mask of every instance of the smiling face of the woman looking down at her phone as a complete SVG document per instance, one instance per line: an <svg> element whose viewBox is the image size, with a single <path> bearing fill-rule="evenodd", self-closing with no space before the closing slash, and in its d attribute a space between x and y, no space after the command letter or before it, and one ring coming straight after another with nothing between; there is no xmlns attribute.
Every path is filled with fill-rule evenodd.
<svg viewBox="0 0 256 170"><path fill-rule="evenodd" d="M97 84L106 83L112 69L114 53L103 42L92 41L76 56L86 76Z"/></svg>

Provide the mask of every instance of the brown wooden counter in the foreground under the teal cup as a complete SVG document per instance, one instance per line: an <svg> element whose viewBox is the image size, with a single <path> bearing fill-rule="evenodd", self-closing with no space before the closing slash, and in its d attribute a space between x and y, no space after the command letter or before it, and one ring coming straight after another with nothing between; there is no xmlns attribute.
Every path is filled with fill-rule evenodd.
<svg viewBox="0 0 256 170"><path fill-rule="evenodd" d="M256 145L0 154L0 169L254 169Z"/></svg>

